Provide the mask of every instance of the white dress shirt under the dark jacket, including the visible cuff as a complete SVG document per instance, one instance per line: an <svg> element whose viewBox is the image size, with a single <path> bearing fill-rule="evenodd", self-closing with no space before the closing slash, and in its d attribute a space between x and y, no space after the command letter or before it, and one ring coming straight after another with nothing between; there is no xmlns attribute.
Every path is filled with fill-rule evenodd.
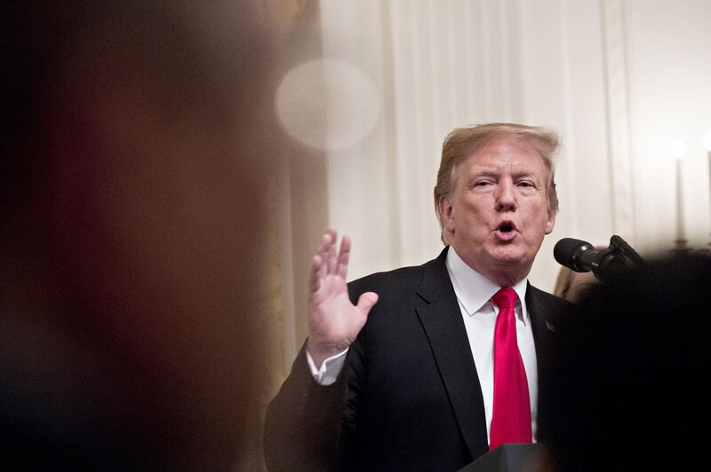
<svg viewBox="0 0 711 472"><path fill-rule="evenodd" d="M486 433L491 440L491 412L494 399L494 328L496 327L496 316L499 314L499 308L491 302L491 297L501 287L465 264L451 246L447 251L445 264L450 274L454 293L459 300L464 326L467 328L469 347L472 350L476 372L479 375L479 384L482 388ZM535 441L538 367L531 318L526 310L526 287L528 287L528 279L523 279L513 287L518 295L518 302L515 306L516 340L523 358L523 366L526 369L531 398L531 430ZM336 382L347 353L348 349L327 358L321 368L316 369L314 359L311 358L311 354L307 350L307 362L314 380L321 385L331 385Z"/></svg>

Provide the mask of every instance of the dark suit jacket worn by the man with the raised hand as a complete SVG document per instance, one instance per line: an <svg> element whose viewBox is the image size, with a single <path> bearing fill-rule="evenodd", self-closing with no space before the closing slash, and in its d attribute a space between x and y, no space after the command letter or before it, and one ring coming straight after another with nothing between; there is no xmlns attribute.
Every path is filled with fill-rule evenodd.
<svg viewBox="0 0 711 472"><path fill-rule="evenodd" d="M457 470L488 451L482 391L444 264L349 284L379 295L339 380L313 381L304 350L268 408L269 470ZM529 286L539 382L555 317L567 303ZM540 437L540 432L539 432Z"/></svg>

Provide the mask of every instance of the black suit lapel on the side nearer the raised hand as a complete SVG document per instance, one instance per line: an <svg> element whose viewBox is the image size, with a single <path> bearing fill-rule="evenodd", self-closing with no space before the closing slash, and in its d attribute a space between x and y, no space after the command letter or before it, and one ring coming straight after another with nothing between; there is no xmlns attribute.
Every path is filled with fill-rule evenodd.
<svg viewBox="0 0 711 472"><path fill-rule="evenodd" d="M424 267L417 314L429 340L444 387L472 457L487 452L482 389L459 303L444 260L445 248Z"/></svg>

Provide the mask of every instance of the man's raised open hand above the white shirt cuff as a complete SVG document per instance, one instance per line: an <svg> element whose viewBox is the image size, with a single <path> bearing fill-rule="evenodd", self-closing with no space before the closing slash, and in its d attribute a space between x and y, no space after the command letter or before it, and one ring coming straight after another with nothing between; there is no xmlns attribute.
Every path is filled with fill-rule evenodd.
<svg viewBox="0 0 711 472"><path fill-rule="evenodd" d="M356 340L372 306L378 302L377 294L365 292L356 305L351 303L346 285L350 238L343 237L338 254L337 242L338 234L329 229L321 237L311 264L307 349L316 367Z"/></svg>

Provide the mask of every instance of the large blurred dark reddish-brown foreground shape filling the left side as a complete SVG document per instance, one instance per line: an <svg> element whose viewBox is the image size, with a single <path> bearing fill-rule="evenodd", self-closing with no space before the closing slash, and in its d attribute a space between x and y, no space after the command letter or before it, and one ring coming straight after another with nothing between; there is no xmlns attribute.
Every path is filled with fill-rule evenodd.
<svg viewBox="0 0 711 472"><path fill-rule="evenodd" d="M275 155L261 3L13 4L0 308L48 358L22 366L28 397L57 393L32 377L60 374L53 354L80 353L93 367L67 382L149 452L234 466L258 434L245 426Z"/></svg>

